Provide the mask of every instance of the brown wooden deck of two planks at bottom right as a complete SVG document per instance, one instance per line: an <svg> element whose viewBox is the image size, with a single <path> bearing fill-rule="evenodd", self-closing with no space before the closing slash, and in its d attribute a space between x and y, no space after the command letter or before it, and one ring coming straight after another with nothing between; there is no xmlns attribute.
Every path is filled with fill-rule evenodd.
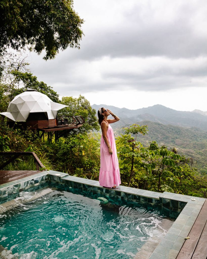
<svg viewBox="0 0 207 259"><path fill-rule="evenodd" d="M176 259L206 259L207 258L207 200L184 242Z"/></svg>

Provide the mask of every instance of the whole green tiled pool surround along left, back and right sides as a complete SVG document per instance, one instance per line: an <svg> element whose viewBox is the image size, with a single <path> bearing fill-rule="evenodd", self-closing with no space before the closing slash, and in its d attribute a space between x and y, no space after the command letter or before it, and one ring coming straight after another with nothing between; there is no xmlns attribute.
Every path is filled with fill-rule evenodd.
<svg viewBox="0 0 207 259"><path fill-rule="evenodd" d="M204 198L170 192L152 192L126 186L107 189L101 187L97 181L49 170L0 185L0 203L17 197L21 191L35 191L45 186L54 186L78 194L85 193L89 197L105 197L115 203L136 202L146 207L157 207L172 218L176 218L179 214L166 236L150 254L151 256L149 255L150 259L175 259L177 257L185 241L184 238L188 236L205 202Z"/></svg>

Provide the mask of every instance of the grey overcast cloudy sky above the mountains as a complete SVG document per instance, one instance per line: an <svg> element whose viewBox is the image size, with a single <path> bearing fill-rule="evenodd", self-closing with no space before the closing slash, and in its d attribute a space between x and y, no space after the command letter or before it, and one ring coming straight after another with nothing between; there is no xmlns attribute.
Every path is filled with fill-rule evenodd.
<svg viewBox="0 0 207 259"><path fill-rule="evenodd" d="M161 104L207 111L206 0L74 0L80 49L31 70L61 96L138 109Z"/></svg>

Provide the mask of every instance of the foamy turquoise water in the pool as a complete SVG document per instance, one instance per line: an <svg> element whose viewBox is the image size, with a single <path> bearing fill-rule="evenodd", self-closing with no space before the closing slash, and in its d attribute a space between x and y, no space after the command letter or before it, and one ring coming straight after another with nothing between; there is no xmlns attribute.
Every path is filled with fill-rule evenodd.
<svg viewBox="0 0 207 259"><path fill-rule="evenodd" d="M58 190L18 201L0 215L0 245L14 258L134 258L146 241L167 232L164 216L141 206Z"/></svg>

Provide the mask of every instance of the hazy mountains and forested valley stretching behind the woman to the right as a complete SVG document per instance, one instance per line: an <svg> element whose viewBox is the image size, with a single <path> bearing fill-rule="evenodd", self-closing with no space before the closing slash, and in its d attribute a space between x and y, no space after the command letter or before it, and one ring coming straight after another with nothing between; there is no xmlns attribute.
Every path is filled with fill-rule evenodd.
<svg viewBox="0 0 207 259"><path fill-rule="evenodd" d="M192 157L198 170L207 174L207 112L176 111L162 105L137 110L92 105L96 111L99 107L106 107L120 117L119 122L112 124L115 136L124 133L123 127L134 123L147 125L148 134L139 135L143 145L155 140L159 145L175 147L180 155Z"/></svg>

